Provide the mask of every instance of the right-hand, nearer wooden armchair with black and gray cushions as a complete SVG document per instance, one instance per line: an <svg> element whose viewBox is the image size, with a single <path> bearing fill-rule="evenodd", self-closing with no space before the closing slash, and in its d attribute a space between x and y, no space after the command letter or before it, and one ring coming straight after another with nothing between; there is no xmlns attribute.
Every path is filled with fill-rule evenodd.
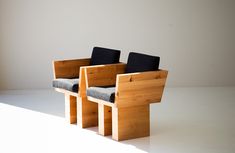
<svg viewBox="0 0 235 153"><path fill-rule="evenodd" d="M161 101L168 74L158 69L159 60L132 52L127 64L84 67L87 98L98 104L99 134L118 141L149 136L149 106Z"/></svg>

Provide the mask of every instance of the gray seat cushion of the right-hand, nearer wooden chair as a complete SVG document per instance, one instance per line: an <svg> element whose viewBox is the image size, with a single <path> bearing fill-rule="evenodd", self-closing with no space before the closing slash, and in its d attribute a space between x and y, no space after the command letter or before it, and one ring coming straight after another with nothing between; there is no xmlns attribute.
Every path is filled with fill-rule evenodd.
<svg viewBox="0 0 235 153"><path fill-rule="evenodd" d="M90 87L87 89L87 96L113 103L115 99L115 87Z"/></svg>

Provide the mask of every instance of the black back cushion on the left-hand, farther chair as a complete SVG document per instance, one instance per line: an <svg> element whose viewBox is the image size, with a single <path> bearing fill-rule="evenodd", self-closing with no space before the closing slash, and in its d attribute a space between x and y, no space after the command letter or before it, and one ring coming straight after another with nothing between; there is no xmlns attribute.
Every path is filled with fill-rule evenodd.
<svg viewBox="0 0 235 153"><path fill-rule="evenodd" d="M119 63L120 53L120 50L94 47L90 65Z"/></svg>

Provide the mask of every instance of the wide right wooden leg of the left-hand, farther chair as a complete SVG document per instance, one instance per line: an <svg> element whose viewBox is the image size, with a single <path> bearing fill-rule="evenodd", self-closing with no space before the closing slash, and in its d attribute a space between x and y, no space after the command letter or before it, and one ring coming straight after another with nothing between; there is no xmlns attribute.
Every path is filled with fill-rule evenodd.
<svg viewBox="0 0 235 153"><path fill-rule="evenodd" d="M77 125L81 128L98 125L98 104L86 97L77 98Z"/></svg>

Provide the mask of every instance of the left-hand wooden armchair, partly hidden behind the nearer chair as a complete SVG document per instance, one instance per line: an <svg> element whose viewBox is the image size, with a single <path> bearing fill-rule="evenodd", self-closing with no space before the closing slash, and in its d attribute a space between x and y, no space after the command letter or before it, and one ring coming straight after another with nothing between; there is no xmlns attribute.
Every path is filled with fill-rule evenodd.
<svg viewBox="0 0 235 153"><path fill-rule="evenodd" d="M65 95L65 118L80 127L97 126L98 106L86 97L82 66L119 63L120 51L94 47L91 58L53 61L53 87Z"/></svg>

